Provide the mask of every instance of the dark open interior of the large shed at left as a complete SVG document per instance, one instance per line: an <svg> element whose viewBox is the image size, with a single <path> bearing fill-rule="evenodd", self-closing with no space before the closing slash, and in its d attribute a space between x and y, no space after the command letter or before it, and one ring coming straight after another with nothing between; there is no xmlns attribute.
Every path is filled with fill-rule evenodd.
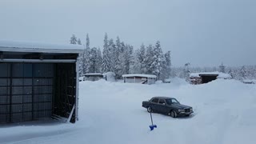
<svg viewBox="0 0 256 144"><path fill-rule="evenodd" d="M0 63L0 123L54 114L67 118L75 103L74 67L74 63Z"/></svg>

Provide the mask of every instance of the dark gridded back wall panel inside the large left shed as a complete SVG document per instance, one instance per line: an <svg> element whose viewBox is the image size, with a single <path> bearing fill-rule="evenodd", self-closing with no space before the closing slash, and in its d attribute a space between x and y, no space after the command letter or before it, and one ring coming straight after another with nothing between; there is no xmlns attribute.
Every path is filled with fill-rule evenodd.
<svg viewBox="0 0 256 144"><path fill-rule="evenodd" d="M53 63L0 63L0 122L52 115Z"/></svg>

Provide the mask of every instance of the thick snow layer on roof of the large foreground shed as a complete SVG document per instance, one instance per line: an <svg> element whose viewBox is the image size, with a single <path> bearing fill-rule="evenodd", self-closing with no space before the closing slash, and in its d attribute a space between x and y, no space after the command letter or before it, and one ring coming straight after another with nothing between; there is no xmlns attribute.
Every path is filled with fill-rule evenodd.
<svg viewBox="0 0 256 144"><path fill-rule="evenodd" d="M82 45L0 40L1 51L78 54L82 53L83 49Z"/></svg>

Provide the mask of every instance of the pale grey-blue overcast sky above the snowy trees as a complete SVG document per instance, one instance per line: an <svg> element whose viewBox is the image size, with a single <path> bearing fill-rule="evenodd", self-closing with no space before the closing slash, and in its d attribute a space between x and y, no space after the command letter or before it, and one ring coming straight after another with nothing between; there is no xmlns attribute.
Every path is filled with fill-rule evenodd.
<svg viewBox="0 0 256 144"><path fill-rule="evenodd" d="M173 66L256 64L255 0L0 0L0 39L90 46L104 34L138 48L160 41Z"/></svg>

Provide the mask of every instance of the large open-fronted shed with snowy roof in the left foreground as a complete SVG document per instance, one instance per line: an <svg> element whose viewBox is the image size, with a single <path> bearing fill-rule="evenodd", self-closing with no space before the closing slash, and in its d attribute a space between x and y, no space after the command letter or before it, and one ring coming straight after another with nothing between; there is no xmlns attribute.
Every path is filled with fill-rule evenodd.
<svg viewBox="0 0 256 144"><path fill-rule="evenodd" d="M0 41L0 123L78 120L78 54L83 47Z"/></svg>

